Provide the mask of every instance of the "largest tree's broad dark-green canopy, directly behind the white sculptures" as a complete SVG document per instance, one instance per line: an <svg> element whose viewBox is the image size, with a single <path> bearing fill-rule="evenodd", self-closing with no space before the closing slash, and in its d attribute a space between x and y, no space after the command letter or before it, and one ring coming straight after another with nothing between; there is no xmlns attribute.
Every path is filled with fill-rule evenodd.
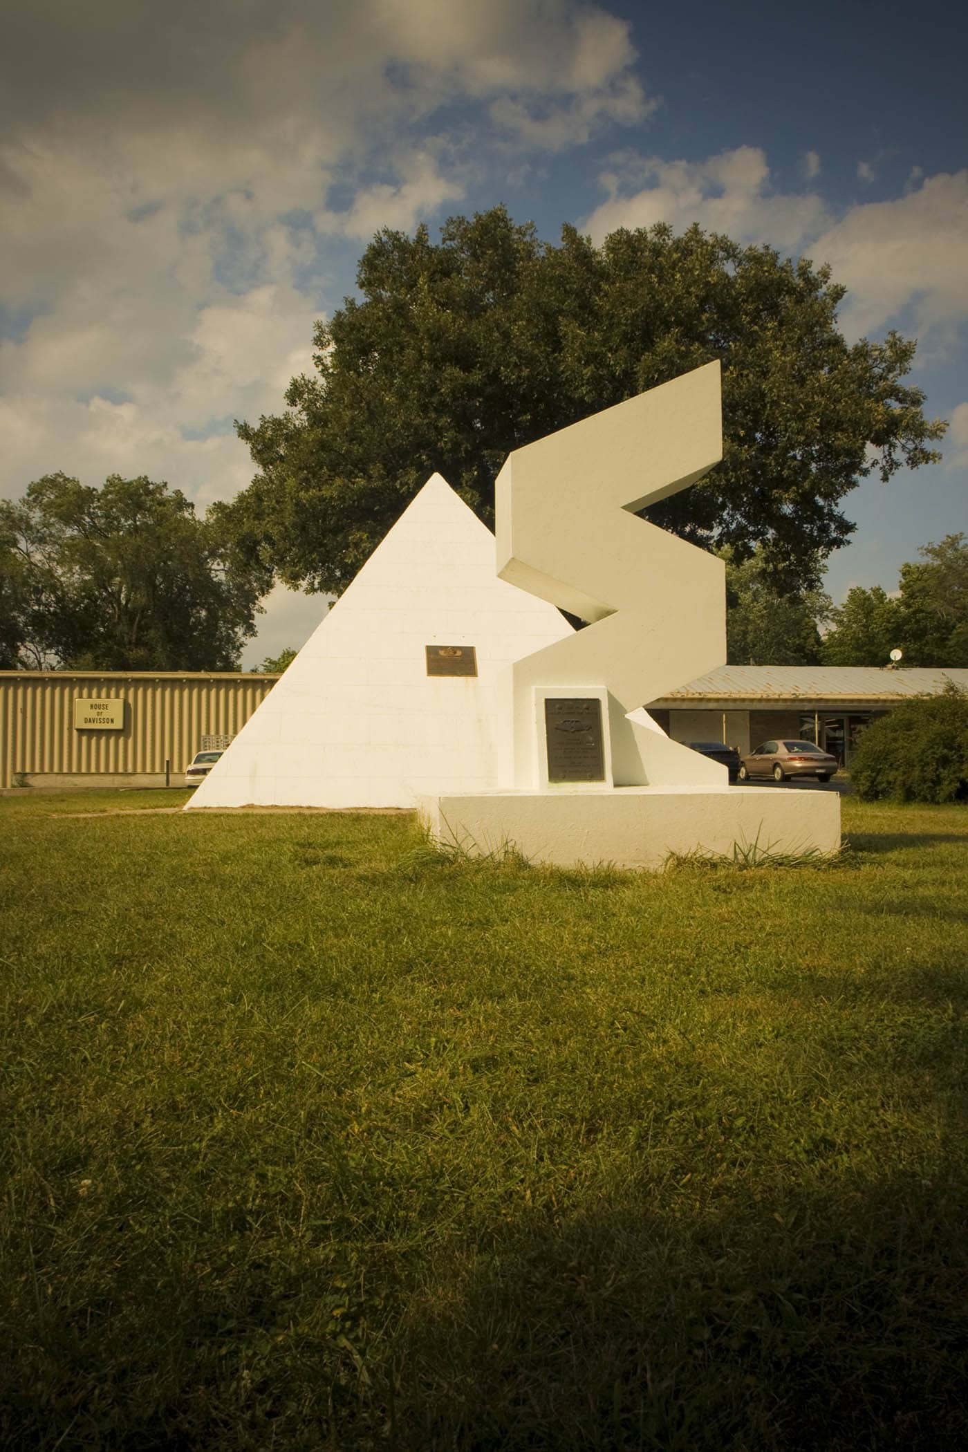
<svg viewBox="0 0 968 1452"><path fill-rule="evenodd" d="M829 269L771 247L665 224L553 245L493 208L440 242L380 232L357 283L286 411L237 425L258 473L222 511L293 587L340 594L434 470L491 523L509 450L714 359L723 463L647 517L737 560L762 544L788 584L849 537L861 478L939 457L945 424L901 382L914 343L848 344Z"/></svg>

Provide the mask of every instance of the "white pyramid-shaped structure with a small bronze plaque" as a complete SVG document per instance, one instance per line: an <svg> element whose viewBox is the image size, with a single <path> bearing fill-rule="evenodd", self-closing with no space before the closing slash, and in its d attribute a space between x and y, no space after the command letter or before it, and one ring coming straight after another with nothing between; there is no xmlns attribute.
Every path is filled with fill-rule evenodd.
<svg viewBox="0 0 968 1452"><path fill-rule="evenodd" d="M197 787L194 807L409 807L498 783L498 677L570 635L495 575L495 542L438 473L424 485ZM427 648L475 648L430 675Z"/></svg>

